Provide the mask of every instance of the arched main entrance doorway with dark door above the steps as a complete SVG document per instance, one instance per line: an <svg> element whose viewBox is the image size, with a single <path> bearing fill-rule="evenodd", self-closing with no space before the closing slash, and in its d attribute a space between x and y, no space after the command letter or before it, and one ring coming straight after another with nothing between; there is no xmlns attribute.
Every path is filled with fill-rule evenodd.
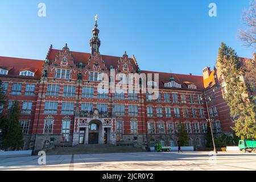
<svg viewBox="0 0 256 182"><path fill-rule="evenodd" d="M101 137L101 122L100 121L91 121L89 123L89 136L88 144L98 144L100 143Z"/></svg>

